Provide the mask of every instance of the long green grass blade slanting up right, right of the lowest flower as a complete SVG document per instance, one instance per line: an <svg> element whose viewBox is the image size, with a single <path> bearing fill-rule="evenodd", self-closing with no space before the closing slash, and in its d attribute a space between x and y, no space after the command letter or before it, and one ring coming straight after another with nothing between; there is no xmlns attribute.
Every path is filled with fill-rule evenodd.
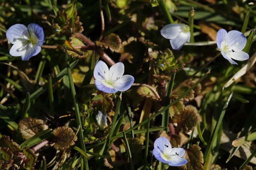
<svg viewBox="0 0 256 170"><path fill-rule="evenodd" d="M220 126L222 125L222 120L223 120L224 115L225 115L225 113L226 113L226 109L227 109L227 107L228 107L228 104L229 104L229 102L230 102L230 99L232 98L232 95L233 95L233 92L232 92L232 93L230 94L230 96L228 97L228 100L226 101L226 103L225 103L225 105L224 105L224 107L223 107L223 109L222 109L222 112L221 112L221 114L220 114L220 117L219 117L219 119L218 119L218 122L217 122L217 124L216 124L216 126L215 126L215 128L214 128L214 131L213 131L213 133L212 133L212 136L211 136L211 138L210 138L210 143L207 145L206 151L205 151L205 153L204 153L204 161L206 161L206 160L209 159L209 155L210 155L210 152L211 152L211 150L212 150L212 144L213 144L214 139L216 138L216 136L217 136L217 134L218 134L218 131L219 131L219 129L220 129Z"/></svg>

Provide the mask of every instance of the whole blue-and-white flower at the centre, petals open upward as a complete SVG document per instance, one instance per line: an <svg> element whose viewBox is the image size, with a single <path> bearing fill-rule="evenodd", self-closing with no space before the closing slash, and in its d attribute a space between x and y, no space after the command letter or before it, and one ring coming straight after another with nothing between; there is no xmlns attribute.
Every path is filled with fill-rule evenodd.
<svg viewBox="0 0 256 170"><path fill-rule="evenodd" d="M116 63L108 69L106 63L99 61L93 72L95 86L105 93L124 92L132 86L134 77L123 74L123 63Z"/></svg>

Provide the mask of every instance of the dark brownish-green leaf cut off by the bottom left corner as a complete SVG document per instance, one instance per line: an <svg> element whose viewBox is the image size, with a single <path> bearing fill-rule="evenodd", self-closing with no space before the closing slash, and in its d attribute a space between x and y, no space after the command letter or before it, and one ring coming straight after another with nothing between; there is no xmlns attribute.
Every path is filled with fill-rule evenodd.
<svg viewBox="0 0 256 170"><path fill-rule="evenodd" d="M13 153L10 148L0 147L0 169L9 168L12 165Z"/></svg>

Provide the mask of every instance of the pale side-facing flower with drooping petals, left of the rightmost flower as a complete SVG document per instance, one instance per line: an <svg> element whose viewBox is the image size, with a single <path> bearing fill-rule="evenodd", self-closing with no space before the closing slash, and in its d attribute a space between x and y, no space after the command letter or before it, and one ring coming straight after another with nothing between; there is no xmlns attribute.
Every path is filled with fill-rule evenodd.
<svg viewBox="0 0 256 170"><path fill-rule="evenodd" d="M165 25L160 32L164 38L170 39L171 46L174 50L180 50L181 47L190 40L189 26L184 23Z"/></svg>

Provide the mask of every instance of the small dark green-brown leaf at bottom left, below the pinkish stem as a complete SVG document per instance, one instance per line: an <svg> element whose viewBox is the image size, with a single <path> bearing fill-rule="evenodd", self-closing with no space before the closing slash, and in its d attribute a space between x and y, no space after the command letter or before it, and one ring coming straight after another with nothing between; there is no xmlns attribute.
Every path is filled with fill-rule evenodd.
<svg viewBox="0 0 256 170"><path fill-rule="evenodd" d="M25 147L23 149L23 153L26 156L25 166L30 170L34 170L34 166L36 165L37 156L34 154L34 152L35 151L30 148Z"/></svg>

